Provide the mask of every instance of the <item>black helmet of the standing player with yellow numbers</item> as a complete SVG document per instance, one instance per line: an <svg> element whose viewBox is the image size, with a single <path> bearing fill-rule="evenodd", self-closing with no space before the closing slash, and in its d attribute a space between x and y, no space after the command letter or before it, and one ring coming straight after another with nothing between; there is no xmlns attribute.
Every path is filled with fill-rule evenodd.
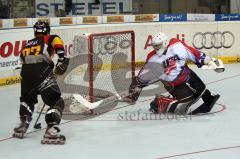
<svg viewBox="0 0 240 159"><path fill-rule="evenodd" d="M33 30L34 30L34 35L47 35L50 34L50 26L48 22L45 21L37 21L34 26L33 26Z"/></svg>

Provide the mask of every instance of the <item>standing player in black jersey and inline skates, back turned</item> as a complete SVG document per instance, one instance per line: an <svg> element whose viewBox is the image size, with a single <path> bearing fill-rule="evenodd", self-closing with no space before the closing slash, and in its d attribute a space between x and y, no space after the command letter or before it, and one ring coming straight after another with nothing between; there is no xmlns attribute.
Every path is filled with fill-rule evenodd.
<svg viewBox="0 0 240 159"><path fill-rule="evenodd" d="M47 22L38 21L33 26L35 37L29 40L22 49L21 60L21 97L20 125L14 128L13 137L24 138L32 120L37 96L49 105L45 115L47 129L42 144L64 144L65 136L60 134L58 125L61 121L64 101L57 85L55 75L63 74L68 67L69 59L64 55L64 45L57 35L50 35ZM58 62L54 69L52 57L56 53ZM55 74L55 75L54 75Z"/></svg>

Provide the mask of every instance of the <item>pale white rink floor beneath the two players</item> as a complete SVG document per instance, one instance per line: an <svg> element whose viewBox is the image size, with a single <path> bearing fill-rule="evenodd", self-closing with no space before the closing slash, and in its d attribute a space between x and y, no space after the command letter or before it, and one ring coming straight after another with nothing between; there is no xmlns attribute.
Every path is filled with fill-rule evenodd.
<svg viewBox="0 0 240 159"><path fill-rule="evenodd" d="M226 65L221 74L192 68L212 92L221 95L212 110L215 113L178 120L137 120L134 113L146 113L153 98L140 97L135 105L119 103L119 109L96 118L62 120L61 129L67 142L57 146L40 144L45 130L32 128L36 113L27 138L11 137L18 124L20 87L0 88L0 159L239 158L240 64ZM135 120L121 120L126 113L133 114ZM46 127L43 115L40 121Z"/></svg>

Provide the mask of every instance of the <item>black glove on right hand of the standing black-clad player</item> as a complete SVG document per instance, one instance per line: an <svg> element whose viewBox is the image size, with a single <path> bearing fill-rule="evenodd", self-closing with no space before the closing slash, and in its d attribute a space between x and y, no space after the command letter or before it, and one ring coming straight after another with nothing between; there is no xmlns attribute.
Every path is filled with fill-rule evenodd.
<svg viewBox="0 0 240 159"><path fill-rule="evenodd" d="M67 71L68 64L69 64L69 58L59 57L54 73L56 75L63 75Z"/></svg>

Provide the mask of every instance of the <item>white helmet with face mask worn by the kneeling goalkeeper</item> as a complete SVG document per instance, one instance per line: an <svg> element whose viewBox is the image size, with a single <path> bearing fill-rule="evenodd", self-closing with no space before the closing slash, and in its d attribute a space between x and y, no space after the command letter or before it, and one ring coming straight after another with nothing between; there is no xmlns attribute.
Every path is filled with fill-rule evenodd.
<svg viewBox="0 0 240 159"><path fill-rule="evenodd" d="M168 42L168 36L163 32L160 32L153 37L152 46L159 56L162 55L162 53L164 53L164 51L167 49Z"/></svg>

